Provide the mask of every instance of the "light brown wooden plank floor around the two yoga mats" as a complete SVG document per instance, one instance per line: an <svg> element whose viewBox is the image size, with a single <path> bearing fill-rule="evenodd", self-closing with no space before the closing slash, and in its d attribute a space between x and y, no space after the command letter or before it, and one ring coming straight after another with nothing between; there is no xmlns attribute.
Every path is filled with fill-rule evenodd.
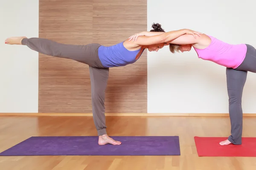
<svg viewBox="0 0 256 170"><path fill-rule="evenodd" d="M228 117L107 117L110 136L180 137L181 156L11 156L0 170L256 170L253 157L198 157L194 136L228 136ZM256 136L244 117L243 136ZM0 117L0 152L30 136L94 136L92 117Z"/></svg>

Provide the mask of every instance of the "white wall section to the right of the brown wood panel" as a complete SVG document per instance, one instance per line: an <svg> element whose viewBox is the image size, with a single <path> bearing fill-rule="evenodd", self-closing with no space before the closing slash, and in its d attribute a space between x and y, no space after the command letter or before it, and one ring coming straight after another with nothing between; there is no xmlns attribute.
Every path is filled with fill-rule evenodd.
<svg viewBox="0 0 256 170"><path fill-rule="evenodd" d="M210 4L207 4L210 3ZM189 28L231 44L256 47L255 2L251 0L148 0L148 30ZM244 113L256 113L256 74L244 86ZM169 47L148 51L148 113L228 113L226 68Z"/></svg>

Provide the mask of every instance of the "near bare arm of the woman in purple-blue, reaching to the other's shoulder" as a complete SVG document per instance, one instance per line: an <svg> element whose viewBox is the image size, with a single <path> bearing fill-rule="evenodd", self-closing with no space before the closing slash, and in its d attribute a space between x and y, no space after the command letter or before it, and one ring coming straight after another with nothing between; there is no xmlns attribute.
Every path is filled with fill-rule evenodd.
<svg viewBox="0 0 256 170"><path fill-rule="evenodd" d="M196 39L196 34L200 37L200 32L192 31L189 29L180 29L177 31L169 31L163 34L154 35L151 37L148 36L140 36L137 38L136 44L137 45L153 45L153 44L160 44L163 42L170 43L170 41L175 40L176 38L180 37L183 34L192 34L194 39Z"/></svg>

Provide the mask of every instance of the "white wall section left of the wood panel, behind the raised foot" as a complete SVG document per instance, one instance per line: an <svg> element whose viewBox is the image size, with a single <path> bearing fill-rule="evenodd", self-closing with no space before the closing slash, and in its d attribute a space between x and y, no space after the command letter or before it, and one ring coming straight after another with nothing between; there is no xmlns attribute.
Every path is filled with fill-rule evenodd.
<svg viewBox="0 0 256 170"><path fill-rule="evenodd" d="M0 112L38 112L38 53L6 45L8 37L38 37L39 0L0 3Z"/></svg>

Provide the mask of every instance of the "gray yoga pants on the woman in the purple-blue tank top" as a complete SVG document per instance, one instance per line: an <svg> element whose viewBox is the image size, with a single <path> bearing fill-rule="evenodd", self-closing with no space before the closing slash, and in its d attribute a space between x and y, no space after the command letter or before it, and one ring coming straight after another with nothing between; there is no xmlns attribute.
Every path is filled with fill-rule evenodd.
<svg viewBox="0 0 256 170"><path fill-rule="evenodd" d="M107 134L105 124L105 90L107 88L109 68L104 68L99 60L98 48L101 45L96 43L67 45L42 38L25 38L21 43L41 54L73 59L89 65L94 124L98 136Z"/></svg>

